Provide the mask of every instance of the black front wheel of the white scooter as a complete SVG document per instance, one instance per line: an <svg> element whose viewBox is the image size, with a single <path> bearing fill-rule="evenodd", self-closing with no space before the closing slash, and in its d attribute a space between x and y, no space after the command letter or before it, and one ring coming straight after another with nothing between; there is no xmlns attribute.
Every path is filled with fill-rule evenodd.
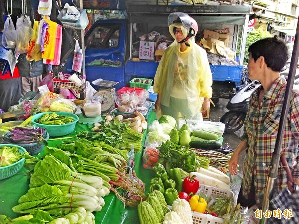
<svg viewBox="0 0 299 224"><path fill-rule="evenodd" d="M244 112L229 111L221 117L220 122L225 124L226 133L233 133L243 126L245 117Z"/></svg>

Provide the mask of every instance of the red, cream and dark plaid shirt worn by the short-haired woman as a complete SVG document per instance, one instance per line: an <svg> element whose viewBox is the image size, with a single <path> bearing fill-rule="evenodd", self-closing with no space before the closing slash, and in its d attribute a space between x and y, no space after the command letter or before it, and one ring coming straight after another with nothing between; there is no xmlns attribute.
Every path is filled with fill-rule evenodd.
<svg viewBox="0 0 299 224"><path fill-rule="evenodd" d="M270 170L271 156L277 138L279 119L286 90L286 80L279 77L264 93L259 104L259 93L262 86L252 93L248 113L244 123L244 135L248 141L248 152L243 167L243 195L248 195L251 180L254 178L256 202L263 201L264 188ZM288 165L293 169L293 176L299 177L299 90L293 90L282 151ZM278 168L276 190L287 187L287 173L282 164Z"/></svg>

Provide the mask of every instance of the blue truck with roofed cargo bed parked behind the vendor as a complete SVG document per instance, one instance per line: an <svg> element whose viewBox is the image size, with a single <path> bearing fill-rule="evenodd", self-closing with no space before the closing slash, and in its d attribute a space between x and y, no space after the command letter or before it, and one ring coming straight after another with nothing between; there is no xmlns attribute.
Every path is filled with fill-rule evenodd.
<svg viewBox="0 0 299 224"><path fill-rule="evenodd" d="M242 12L240 13L241 15L236 14L236 8ZM234 21L235 24L233 25L235 27L238 27L240 24L245 26L249 17L249 9L243 6L235 6L233 8L230 6L205 6L198 8L149 6L145 8L144 6L135 5L128 7L127 10L128 19L97 20L86 32L85 70L87 81L92 82L99 78L119 81L120 83L116 86L116 89L119 89L123 86L129 86L130 80L135 77L154 78L159 62L138 59L138 49L133 48L136 43L136 35L134 36L133 34L134 24L143 24L146 27L143 31L147 31L147 33L153 31L156 27L163 28L164 33L161 33L161 35L165 35L168 32L167 17L169 13L174 11L190 14L199 23L201 29L204 29L205 24L213 23L214 18L216 18L215 23L220 21L219 23L222 27L226 25L226 21ZM212 16L210 16L211 11L214 11ZM207 14L204 14L205 12ZM219 19L219 15L223 15L223 18ZM233 36L233 41L237 42L238 32L235 29ZM236 49L236 43L232 45ZM215 85L217 83L226 83L230 87L240 85L243 66L210 65L210 67ZM97 86L93 85L93 87L98 89ZM219 90L218 86L214 89ZM214 91L214 93L219 95L217 91Z"/></svg>

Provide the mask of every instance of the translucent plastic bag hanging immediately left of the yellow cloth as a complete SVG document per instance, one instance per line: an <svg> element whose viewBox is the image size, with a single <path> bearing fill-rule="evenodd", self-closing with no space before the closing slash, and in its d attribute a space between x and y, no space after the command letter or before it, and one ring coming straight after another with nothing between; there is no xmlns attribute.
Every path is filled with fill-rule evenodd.
<svg viewBox="0 0 299 224"><path fill-rule="evenodd" d="M30 18L22 15L16 21L16 52L22 54L28 51L32 33Z"/></svg>

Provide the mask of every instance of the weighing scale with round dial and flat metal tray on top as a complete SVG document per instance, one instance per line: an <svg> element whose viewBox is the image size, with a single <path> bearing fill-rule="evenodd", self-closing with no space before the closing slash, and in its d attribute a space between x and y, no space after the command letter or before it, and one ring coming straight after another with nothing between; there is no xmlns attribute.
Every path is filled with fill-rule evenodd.
<svg viewBox="0 0 299 224"><path fill-rule="evenodd" d="M119 82L99 79L94 81L93 84L99 86L99 90L93 95L94 102L101 103L101 112L103 116L109 115L116 110L114 96L115 85Z"/></svg>

